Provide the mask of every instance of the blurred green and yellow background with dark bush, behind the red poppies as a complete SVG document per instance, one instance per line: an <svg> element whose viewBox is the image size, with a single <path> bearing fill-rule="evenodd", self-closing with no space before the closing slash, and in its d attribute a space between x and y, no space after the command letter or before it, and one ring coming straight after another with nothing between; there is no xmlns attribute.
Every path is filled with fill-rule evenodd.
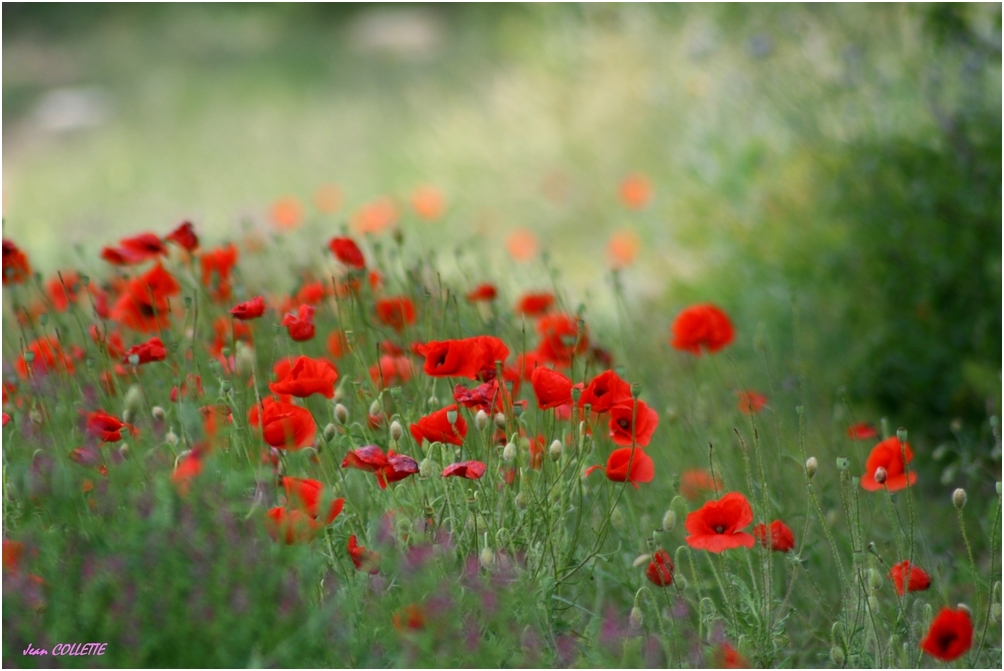
<svg viewBox="0 0 1004 671"><path fill-rule="evenodd" d="M43 273L183 219L296 267L378 203L446 273L611 309L612 239L653 338L712 300L791 358L797 311L819 389L936 437L1000 412L999 5L3 18L3 234Z"/></svg>

